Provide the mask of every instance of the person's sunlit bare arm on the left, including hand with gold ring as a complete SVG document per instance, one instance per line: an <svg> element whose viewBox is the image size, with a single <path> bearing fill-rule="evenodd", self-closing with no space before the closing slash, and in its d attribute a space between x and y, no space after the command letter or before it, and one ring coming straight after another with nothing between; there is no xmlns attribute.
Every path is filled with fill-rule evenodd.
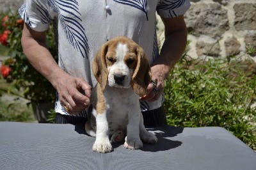
<svg viewBox="0 0 256 170"><path fill-rule="evenodd" d="M31 65L57 89L61 104L70 104L70 114L77 114L90 103L91 86L83 79L68 75L56 63L46 47L46 34L24 24L22 48Z"/></svg>

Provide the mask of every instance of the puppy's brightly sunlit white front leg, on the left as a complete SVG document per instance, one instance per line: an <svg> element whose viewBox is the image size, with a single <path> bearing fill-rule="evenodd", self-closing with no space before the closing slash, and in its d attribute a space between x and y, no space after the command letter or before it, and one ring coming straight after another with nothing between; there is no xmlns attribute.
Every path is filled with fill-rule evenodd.
<svg viewBox="0 0 256 170"><path fill-rule="evenodd" d="M93 151L100 153L107 153L113 150L109 141L109 129L107 121L107 112L97 114L96 116L97 130L96 130L96 141L93 144Z"/></svg>

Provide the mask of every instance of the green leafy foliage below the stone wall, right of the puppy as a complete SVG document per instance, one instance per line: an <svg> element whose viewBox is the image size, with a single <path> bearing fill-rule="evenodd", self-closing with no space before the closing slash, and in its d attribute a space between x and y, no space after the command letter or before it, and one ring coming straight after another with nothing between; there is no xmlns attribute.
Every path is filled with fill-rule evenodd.
<svg viewBox="0 0 256 170"><path fill-rule="evenodd" d="M168 125L223 127L256 149L255 68L252 61L182 58L165 82Z"/></svg>

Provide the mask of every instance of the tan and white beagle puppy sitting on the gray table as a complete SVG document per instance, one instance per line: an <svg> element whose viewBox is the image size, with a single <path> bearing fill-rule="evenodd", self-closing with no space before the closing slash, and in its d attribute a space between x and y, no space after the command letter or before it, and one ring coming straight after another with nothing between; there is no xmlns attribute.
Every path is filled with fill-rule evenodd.
<svg viewBox="0 0 256 170"><path fill-rule="evenodd" d="M157 143L157 137L145 129L140 111L139 98L146 95L151 80L143 49L124 36L109 40L95 55L92 71L98 83L92 90L92 113L85 130L96 137L93 151L110 152L111 143L124 139L124 147L131 150L141 148L142 142Z"/></svg>

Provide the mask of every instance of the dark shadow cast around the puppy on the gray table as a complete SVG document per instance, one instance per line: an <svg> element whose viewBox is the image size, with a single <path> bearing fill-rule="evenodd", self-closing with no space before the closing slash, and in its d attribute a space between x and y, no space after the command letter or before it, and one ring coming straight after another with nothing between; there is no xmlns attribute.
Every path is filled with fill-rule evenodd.
<svg viewBox="0 0 256 170"><path fill-rule="evenodd" d="M143 143L143 148L140 150L142 151L150 151L150 152L156 152L156 151L166 151L171 150L173 148L179 147L182 142L180 141L172 141L170 138L175 137L178 134L181 134L183 132L184 128L180 127L148 127L147 130L154 133L157 137L157 143L156 144L146 144ZM75 131L78 134L84 134L87 135L84 130L84 125L75 125ZM123 143L117 143L112 144L113 148L118 148Z"/></svg>

